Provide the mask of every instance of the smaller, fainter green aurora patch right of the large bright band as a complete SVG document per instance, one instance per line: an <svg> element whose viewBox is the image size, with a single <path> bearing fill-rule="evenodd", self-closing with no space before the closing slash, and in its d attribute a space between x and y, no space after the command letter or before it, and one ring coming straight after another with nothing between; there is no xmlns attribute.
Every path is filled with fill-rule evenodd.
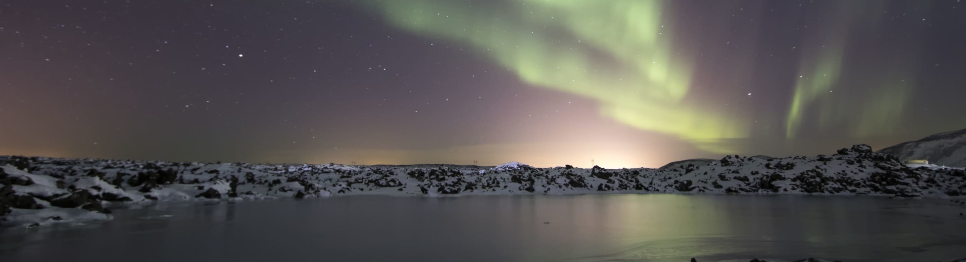
<svg viewBox="0 0 966 262"><path fill-rule="evenodd" d="M908 68L915 67L916 56L913 52L903 52L882 54L881 57L889 57L892 61L882 61L881 57L849 60L846 52L850 37L876 32L889 15L894 15L885 12L887 4L883 1L839 1L825 7L827 14L799 60L799 76L785 117L786 139L795 139L809 117L814 118L812 123L820 130L841 125L849 130L849 135L857 138L888 135L895 130L914 87L915 79L907 72ZM921 7L919 10L927 9ZM846 63L852 65L845 66ZM858 77L853 79L859 81L843 83L842 73L846 67L861 67L871 72L857 71ZM850 92L850 95L834 92ZM862 99L848 98L856 96Z"/></svg>

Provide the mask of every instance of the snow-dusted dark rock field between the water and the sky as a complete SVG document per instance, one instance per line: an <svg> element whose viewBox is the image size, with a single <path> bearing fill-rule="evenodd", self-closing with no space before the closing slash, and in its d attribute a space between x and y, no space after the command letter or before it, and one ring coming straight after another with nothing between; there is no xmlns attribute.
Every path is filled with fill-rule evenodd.
<svg viewBox="0 0 966 262"><path fill-rule="evenodd" d="M865 144L814 157L726 156L704 166L606 170L419 165L255 165L0 156L0 220L43 225L108 220L116 203L349 195L616 193L947 197L966 171L910 168Z"/></svg>

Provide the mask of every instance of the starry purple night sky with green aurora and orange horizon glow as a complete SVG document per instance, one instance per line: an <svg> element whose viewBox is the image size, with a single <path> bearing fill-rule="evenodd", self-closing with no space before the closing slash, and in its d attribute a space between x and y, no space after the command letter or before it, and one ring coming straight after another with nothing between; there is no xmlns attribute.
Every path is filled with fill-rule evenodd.
<svg viewBox="0 0 966 262"><path fill-rule="evenodd" d="M0 154L656 168L966 128L963 83L957 0L0 0Z"/></svg>

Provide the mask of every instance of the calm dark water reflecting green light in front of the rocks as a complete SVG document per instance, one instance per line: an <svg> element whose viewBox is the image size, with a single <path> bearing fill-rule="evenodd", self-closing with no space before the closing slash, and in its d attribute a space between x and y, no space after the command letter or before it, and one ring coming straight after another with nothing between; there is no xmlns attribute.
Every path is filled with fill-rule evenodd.
<svg viewBox="0 0 966 262"><path fill-rule="evenodd" d="M116 210L110 223L5 229L0 261L950 261L966 257L966 208L949 203L604 195L157 205Z"/></svg>

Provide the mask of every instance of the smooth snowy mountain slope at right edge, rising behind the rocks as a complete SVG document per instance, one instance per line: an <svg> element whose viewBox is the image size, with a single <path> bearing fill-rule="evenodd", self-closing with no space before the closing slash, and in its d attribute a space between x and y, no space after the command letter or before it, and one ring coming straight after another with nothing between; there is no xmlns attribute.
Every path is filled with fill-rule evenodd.
<svg viewBox="0 0 966 262"><path fill-rule="evenodd" d="M924 139L895 144L878 151L899 160L928 160L948 167L966 167L966 129L935 134Z"/></svg>

